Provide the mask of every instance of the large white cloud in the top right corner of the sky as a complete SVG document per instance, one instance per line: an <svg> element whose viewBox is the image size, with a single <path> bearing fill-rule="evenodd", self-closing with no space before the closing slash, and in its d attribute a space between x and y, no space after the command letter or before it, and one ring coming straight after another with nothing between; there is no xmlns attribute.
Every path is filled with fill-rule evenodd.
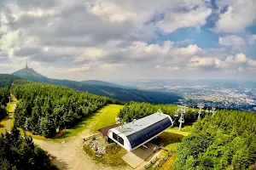
<svg viewBox="0 0 256 170"><path fill-rule="evenodd" d="M256 3L254 0L224 0L217 3L220 9L226 6L228 8L224 14L219 14L215 31L241 32L256 20Z"/></svg>

